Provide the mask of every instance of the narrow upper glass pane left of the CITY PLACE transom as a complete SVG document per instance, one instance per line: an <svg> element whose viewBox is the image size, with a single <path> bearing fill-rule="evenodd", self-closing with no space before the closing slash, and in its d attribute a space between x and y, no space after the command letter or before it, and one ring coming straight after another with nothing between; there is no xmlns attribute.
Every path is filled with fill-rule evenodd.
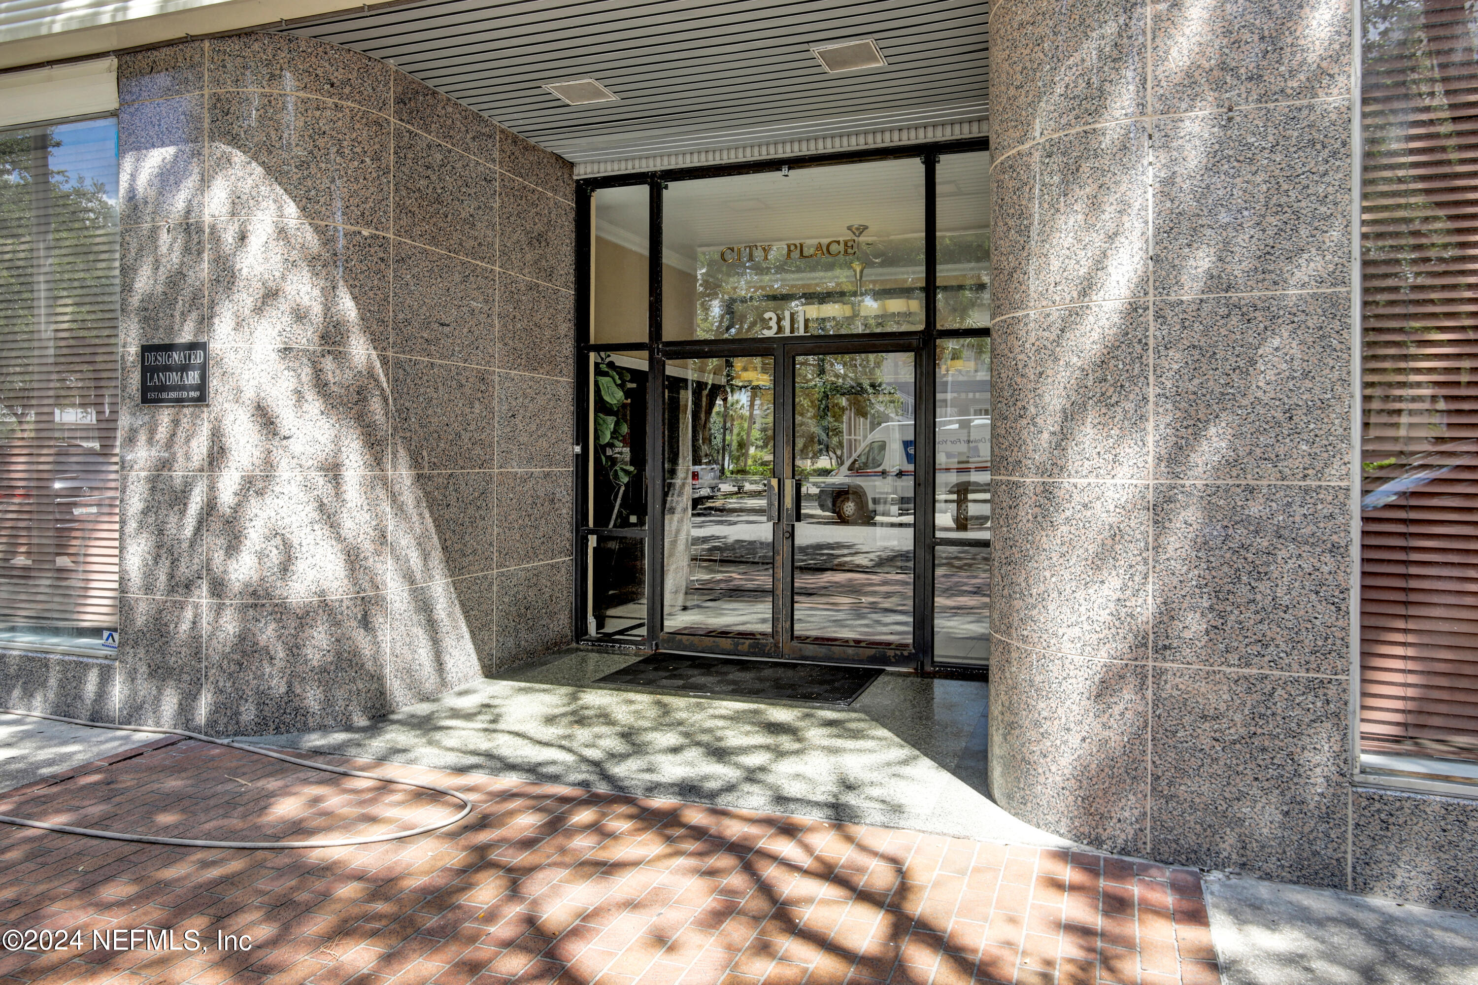
<svg viewBox="0 0 1478 985"><path fill-rule="evenodd" d="M647 342L650 189L599 188L590 197L590 342Z"/></svg>

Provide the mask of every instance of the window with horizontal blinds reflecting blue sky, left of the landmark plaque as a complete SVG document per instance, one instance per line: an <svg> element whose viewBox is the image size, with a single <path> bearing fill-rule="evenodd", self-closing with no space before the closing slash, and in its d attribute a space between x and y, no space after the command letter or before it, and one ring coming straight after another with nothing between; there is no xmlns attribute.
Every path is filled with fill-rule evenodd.
<svg viewBox="0 0 1478 985"><path fill-rule="evenodd" d="M0 130L0 646L117 621L117 120Z"/></svg>

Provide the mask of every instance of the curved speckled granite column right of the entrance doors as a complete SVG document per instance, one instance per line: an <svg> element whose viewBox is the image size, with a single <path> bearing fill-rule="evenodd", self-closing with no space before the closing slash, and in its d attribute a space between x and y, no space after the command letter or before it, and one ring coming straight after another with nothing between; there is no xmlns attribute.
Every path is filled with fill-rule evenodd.
<svg viewBox="0 0 1478 985"><path fill-rule="evenodd" d="M992 10L990 782L1344 880L1349 13Z"/></svg>

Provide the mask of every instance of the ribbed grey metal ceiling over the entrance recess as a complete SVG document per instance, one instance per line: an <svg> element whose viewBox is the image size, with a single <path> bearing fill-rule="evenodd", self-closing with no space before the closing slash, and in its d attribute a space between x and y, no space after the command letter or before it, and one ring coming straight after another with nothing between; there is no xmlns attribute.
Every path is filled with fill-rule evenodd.
<svg viewBox="0 0 1478 985"><path fill-rule="evenodd" d="M980 120L983 0L442 0L293 34L393 61L572 161ZM875 38L885 68L829 75L811 46ZM621 101L569 106L545 83Z"/></svg>

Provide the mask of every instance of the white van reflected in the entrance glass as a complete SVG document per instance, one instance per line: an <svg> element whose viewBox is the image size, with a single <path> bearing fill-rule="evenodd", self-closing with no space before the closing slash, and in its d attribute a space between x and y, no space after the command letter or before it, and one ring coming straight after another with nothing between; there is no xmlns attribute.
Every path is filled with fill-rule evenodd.
<svg viewBox="0 0 1478 985"><path fill-rule="evenodd" d="M990 419L941 417L936 422L934 494L953 498L956 529L990 522ZM817 487L816 506L842 524L913 512L913 422L873 430L842 467ZM974 506L971 506L974 503Z"/></svg>

